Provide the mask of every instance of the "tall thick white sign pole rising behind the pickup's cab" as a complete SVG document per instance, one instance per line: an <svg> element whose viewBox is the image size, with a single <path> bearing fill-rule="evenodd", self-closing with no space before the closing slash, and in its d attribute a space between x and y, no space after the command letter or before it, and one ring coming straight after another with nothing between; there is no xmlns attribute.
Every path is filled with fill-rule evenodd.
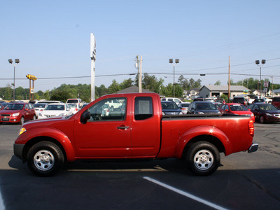
<svg viewBox="0 0 280 210"><path fill-rule="evenodd" d="M90 34L90 72L91 72L91 102L95 99L95 60L96 60L96 40L93 33Z"/></svg>

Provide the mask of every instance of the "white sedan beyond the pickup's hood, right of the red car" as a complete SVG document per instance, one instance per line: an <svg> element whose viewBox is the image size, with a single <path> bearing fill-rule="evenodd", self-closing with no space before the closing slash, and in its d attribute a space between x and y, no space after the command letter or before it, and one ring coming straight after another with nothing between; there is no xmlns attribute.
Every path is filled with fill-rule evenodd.
<svg viewBox="0 0 280 210"><path fill-rule="evenodd" d="M71 114L73 114L73 111L67 104L48 104L43 111L40 111L38 119L70 116Z"/></svg>

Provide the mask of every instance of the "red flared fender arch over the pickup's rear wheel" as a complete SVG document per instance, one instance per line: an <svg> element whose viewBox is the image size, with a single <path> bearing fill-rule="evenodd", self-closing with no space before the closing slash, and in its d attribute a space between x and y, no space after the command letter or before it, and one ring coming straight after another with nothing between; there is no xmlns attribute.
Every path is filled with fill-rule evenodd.
<svg viewBox="0 0 280 210"><path fill-rule="evenodd" d="M200 136L211 136L216 137L219 141L221 141L221 144L223 144L225 148L225 155L229 155L232 153L231 151L231 144L230 139L228 139L227 135L217 127L209 126L209 125L201 125L198 127L193 127L187 132L185 132L181 138L178 141L178 144L175 148L175 156L178 158L181 158L181 155L183 154L183 150L192 139L195 137Z"/></svg>

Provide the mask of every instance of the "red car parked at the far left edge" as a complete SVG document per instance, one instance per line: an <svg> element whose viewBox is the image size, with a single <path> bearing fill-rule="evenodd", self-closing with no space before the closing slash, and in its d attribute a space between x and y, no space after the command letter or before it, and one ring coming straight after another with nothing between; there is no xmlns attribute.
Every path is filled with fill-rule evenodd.
<svg viewBox="0 0 280 210"><path fill-rule="evenodd" d="M0 111L1 123L20 123L21 125L27 120L35 120L36 114L32 104L29 103L8 103Z"/></svg>

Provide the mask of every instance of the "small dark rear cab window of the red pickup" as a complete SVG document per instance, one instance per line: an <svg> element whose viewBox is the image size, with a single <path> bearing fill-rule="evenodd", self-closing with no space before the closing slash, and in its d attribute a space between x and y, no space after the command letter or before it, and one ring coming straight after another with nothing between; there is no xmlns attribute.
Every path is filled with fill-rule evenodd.
<svg viewBox="0 0 280 210"><path fill-rule="evenodd" d="M151 97L136 97L134 102L135 120L146 120L153 116L153 100Z"/></svg>

